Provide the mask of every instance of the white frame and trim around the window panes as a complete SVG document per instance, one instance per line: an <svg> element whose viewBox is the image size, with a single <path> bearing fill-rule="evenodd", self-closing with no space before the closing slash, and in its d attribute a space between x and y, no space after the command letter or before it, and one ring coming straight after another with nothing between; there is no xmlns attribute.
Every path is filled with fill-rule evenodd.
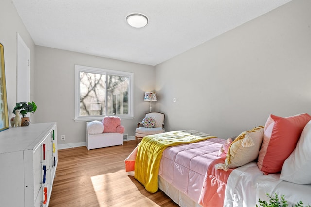
<svg viewBox="0 0 311 207"><path fill-rule="evenodd" d="M86 73L98 73L105 75L117 75L129 77L129 90L128 90L128 114L115 115L121 119L133 119L134 118L134 73L123 72L117 70L108 70L103 68L88 67L82 65L74 65L74 121L93 121L102 120L104 115L96 116L80 116L80 72ZM107 94L107 93L106 93ZM106 95L107 96L107 95Z"/></svg>

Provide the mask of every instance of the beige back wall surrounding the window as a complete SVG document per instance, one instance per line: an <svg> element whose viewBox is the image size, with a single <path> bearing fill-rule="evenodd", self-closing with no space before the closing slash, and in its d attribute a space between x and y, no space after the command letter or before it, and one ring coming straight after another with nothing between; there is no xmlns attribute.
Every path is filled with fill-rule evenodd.
<svg viewBox="0 0 311 207"><path fill-rule="evenodd" d="M86 122L73 121L75 64L134 73L135 118L121 123L125 134L135 135L136 123L149 111L149 104L143 101L143 96L144 91L154 89L153 66L41 46L35 46L35 53L35 97L38 105L35 115L37 122L57 122L58 144L64 144L60 141L62 134L66 135L66 143L86 141Z"/></svg>

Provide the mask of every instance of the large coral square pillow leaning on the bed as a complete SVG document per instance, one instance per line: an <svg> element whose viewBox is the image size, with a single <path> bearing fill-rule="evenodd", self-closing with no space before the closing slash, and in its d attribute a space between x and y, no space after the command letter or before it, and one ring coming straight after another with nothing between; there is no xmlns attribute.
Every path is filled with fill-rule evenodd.
<svg viewBox="0 0 311 207"><path fill-rule="evenodd" d="M285 159L295 149L303 128L310 120L307 113L286 118L270 114L257 162L265 175L282 170Z"/></svg>

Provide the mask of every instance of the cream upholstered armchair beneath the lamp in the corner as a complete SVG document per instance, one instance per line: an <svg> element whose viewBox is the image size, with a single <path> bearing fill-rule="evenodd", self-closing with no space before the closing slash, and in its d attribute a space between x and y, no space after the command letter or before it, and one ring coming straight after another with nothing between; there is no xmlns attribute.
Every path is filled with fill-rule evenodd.
<svg viewBox="0 0 311 207"><path fill-rule="evenodd" d="M159 133L164 133L164 113L160 112L150 112L146 113L145 117L150 117L152 118L155 123L153 128L148 128L148 127L141 127L143 125L142 122L137 123L137 128L135 130L135 140L136 140L136 145L138 144L138 139L142 139L144 136L147 135L152 135L152 134L159 134Z"/></svg>

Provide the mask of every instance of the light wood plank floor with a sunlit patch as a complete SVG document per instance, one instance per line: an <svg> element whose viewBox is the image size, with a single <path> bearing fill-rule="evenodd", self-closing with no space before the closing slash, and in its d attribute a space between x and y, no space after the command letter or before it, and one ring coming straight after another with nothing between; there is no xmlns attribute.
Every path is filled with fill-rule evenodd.
<svg viewBox="0 0 311 207"><path fill-rule="evenodd" d="M58 150L49 207L178 207L162 191L147 192L125 172L124 159L135 141L123 146Z"/></svg>

